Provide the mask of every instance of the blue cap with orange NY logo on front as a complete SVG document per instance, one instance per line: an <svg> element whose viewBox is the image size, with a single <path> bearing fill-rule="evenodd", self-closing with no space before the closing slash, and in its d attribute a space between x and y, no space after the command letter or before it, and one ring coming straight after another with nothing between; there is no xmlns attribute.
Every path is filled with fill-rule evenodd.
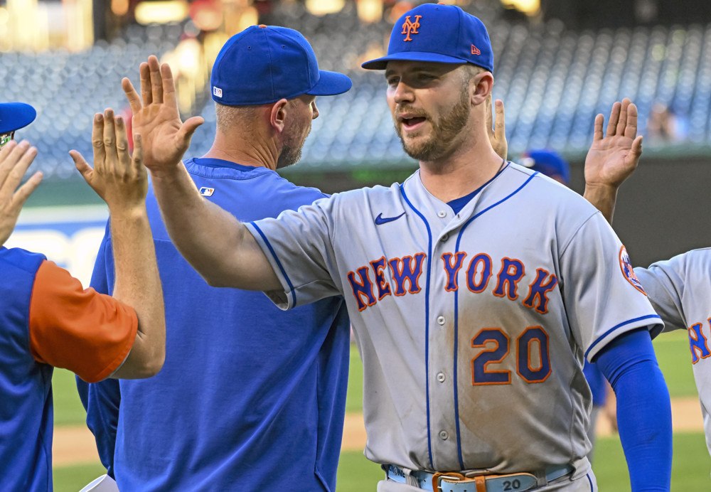
<svg viewBox="0 0 711 492"><path fill-rule="evenodd" d="M486 27L454 5L422 4L405 12L392 28L387 55L360 66L385 70L390 60L474 63L493 72Z"/></svg>

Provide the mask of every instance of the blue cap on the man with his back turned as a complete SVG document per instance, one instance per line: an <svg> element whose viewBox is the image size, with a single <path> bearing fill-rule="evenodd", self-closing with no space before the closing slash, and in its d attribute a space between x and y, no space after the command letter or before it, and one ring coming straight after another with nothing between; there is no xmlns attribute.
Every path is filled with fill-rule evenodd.
<svg viewBox="0 0 711 492"><path fill-rule="evenodd" d="M294 29L250 26L220 50L210 77L213 100L265 105L302 94L330 96L351 88L346 75L319 70L309 41Z"/></svg>

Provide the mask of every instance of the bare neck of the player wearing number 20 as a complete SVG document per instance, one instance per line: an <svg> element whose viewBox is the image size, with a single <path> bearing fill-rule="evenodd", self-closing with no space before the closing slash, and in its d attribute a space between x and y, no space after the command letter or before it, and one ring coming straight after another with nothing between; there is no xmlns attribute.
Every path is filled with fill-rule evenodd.
<svg viewBox="0 0 711 492"><path fill-rule="evenodd" d="M468 195L496 176L503 159L491 146L482 152L456 152L445 159L419 163L422 184L429 193L447 203Z"/></svg>

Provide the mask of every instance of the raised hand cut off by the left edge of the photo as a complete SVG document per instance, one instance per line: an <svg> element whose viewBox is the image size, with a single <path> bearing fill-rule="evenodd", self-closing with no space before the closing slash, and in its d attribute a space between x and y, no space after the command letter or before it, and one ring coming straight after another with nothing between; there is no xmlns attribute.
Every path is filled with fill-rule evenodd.
<svg viewBox="0 0 711 492"><path fill-rule="evenodd" d="M37 171L18 188L36 155L37 149L27 141L9 141L0 150L0 246L14 230L22 205L42 181Z"/></svg>

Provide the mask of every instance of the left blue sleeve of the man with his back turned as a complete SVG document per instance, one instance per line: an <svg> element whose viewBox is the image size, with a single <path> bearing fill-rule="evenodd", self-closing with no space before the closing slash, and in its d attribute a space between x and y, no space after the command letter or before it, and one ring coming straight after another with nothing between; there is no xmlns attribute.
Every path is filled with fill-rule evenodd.
<svg viewBox="0 0 711 492"><path fill-rule="evenodd" d="M110 294L113 288L114 261L109 245L109 228L107 225L104 240L97 254L91 287L102 294ZM107 474L114 477L114 446L116 444L116 428L119 422L119 403L121 392L119 382L115 379L103 380L101 383L86 383L77 380L82 405L87 411L87 427L96 440L97 451Z"/></svg>

